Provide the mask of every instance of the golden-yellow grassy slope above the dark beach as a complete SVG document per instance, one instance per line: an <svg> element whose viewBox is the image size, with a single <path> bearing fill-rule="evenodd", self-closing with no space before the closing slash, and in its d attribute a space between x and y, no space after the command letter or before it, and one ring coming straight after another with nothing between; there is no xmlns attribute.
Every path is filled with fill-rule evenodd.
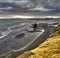
<svg viewBox="0 0 60 58"><path fill-rule="evenodd" d="M60 58L60 26L44 43L31 51L24 52L17 58Z"/></svg>

